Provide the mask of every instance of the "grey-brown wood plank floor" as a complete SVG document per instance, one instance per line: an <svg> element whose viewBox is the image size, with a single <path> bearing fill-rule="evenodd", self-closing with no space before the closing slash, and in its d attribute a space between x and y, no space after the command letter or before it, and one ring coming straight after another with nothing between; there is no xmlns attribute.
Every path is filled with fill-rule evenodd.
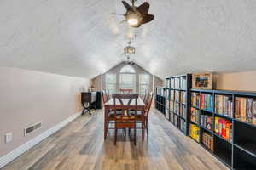
<svg viewBox="0 0 256 170"><path fill-rule="evenodd" d="M103 139L103 112L80 116L58 133L45 139L3 170L87 170L87 169L228 169L199 144L184 136L160 112L149 115L149 136L144 142L137 133L137 145L119 131ZM131 134L132 138L132 134Z"/></svg>

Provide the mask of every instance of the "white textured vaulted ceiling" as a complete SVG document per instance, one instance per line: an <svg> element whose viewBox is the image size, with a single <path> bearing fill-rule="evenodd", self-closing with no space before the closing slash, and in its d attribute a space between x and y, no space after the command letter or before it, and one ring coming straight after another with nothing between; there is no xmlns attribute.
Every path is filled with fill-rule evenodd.
<svg viewBox="0 0 256 170"><path fill-rule="evenodd" d="M137 4L143 0L137 0ZM131 59L159 77L256 70L255 0L150 0L154 20L119 24L120 0L1 0L0 65L95 77Z"/></svg>

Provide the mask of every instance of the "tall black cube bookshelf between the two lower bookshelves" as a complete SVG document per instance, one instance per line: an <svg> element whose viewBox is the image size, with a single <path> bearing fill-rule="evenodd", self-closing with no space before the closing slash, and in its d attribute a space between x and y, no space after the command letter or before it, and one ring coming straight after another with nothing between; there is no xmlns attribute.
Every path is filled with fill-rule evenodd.
<svg viewBox="0 0 256 170"><path fill-rule="evenodd" d="M166 78L166 119L185 135L189 133L191 79L190 74Z"/></svg>

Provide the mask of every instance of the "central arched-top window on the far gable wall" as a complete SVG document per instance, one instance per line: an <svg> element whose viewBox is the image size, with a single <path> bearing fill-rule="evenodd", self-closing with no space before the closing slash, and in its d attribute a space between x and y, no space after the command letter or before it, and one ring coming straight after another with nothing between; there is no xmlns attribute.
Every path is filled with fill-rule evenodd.
<svg viewBox="0 0 256 170"><path fill-rule="evenodd" d="M131 65L125 65L120 70L120 87L122 89L133 89L136 91L136 71Z"/></svg>

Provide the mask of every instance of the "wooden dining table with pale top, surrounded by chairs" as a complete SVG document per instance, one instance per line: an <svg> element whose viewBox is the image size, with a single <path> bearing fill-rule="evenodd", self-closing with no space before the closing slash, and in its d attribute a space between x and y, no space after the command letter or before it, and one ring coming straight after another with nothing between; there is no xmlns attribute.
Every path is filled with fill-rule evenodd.
<svg viewBox="0 0 256 170"><path fill-rule="evenodd" d="M145 104L143 102L143 99L140 97L137 99L137 106L135 105L135 99L131 101L131 104L128 105L130 99L122 99L122 102L124 105L120 105L120 102L118 99L116 99L116 109L131 109L135 110L137 108L137 111L142 111L142 114L144 114ZM108 126L108 114L110 111L113 111L115 109L113 98L109 99L108 102L104 104L104 138L106 139L108 129L106 128Z"/></svg>

